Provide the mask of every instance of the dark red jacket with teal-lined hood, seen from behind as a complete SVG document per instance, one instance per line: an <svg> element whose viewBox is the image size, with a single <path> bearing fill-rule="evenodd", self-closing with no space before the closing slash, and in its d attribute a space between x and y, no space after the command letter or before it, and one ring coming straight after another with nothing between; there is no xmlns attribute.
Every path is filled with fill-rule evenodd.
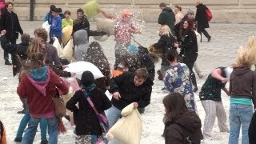
<svg viewBox="0 0 256 144"><path fill-rule="evenodd" d="M52 98L68 93L68 87L62 78L50 70L48 66L42 66L23 74L17 88L20 98L27 98L30 115L34 118L53 118L54 102Z"/></svg>

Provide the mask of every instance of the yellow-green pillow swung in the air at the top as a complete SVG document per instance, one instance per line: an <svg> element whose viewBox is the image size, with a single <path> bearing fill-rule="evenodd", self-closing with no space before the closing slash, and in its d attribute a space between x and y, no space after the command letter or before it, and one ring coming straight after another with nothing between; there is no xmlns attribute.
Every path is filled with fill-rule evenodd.
<svg viewBox="0 0 256 144"><path fill-rule="evenodd" d="M93 17L94 15L98 14L99 4L98 0L93 0L91 2L86 3L82 6L82 10L85 11L86 16L88 18Z"/></svg>

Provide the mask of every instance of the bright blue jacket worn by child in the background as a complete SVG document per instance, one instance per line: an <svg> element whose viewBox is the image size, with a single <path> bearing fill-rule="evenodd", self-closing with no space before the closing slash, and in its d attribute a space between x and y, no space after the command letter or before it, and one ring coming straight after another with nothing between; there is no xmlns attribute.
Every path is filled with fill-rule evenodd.
<svg viewBox="0 0 256 144"><path fill-rule="evenodd" d="M50 26L50 38L62 38L62 18L60 16L53 18Z"/></svg>

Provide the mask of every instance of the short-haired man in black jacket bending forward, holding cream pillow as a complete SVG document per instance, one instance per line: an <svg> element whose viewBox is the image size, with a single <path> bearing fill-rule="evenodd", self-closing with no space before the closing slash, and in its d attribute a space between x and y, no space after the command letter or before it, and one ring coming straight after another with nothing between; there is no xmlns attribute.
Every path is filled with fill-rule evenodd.
<svg viewBox="0 0 256 144"><path fill-rule="evenodd" d="M143 108L150 104L153 84L148 78L146 68L139 68L135 73L124 72L112 78L110 81L110 93L113 94L112 107L107 114L110 127L114 126L121 117L122 109L130 103L134 103L134 109L142 108L138 110L143 113Z"/></svg>

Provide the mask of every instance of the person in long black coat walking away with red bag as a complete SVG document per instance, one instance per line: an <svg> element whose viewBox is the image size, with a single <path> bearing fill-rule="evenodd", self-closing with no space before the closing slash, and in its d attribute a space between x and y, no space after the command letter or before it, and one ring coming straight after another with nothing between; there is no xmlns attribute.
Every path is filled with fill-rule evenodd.
<svg viewBox="0 0 256 144"><path fill-rule="evenodd" d="M206 17L206 5L199 3L197 7L197 13L195 14L195 21L198 22L198 33L201 35L201 42L202 42L202 34L208 38L208 42L210 42L210 34L206 31L206 28L209 28L209 22Z"/></svg>

